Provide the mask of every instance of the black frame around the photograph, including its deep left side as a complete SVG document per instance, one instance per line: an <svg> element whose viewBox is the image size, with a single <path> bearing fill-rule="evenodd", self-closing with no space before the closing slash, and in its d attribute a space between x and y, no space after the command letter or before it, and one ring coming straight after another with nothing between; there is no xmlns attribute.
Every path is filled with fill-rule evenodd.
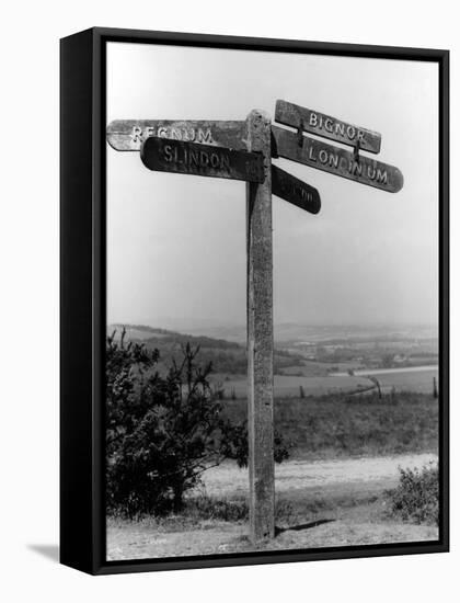
<svg viewBox="0 0 460 603"><path fill-rule="evenodd" d="M439 539L106 561L104 505L106 44L432 61L439 67ZM60 41L60 561L92 574L449 550L449 52L94 27ZM78 378L76 378L78 375Z"/></svg>

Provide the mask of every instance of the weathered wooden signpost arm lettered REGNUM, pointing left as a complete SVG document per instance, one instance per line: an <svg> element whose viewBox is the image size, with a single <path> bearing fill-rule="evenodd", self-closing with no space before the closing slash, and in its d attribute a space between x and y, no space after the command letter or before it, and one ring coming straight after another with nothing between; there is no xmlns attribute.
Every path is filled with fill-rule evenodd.
<svg viewBox="0 0 460 603"><path fill-rule="evenodd" d="M116 120L106 129L115 150L138 151L150 136L186 143L246 149L246 123L209 120Z"/></svg>

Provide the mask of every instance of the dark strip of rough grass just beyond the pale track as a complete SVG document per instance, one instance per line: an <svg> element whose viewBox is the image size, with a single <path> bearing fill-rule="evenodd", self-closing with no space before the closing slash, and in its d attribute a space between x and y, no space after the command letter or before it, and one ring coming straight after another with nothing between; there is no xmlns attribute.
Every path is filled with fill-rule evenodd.
<svg viewBox="0 0 460 603"><path fill-rule="evenodd" d="M246 417L245 400L225 402L233 421ZM330 394L275 400L275 428L295 443L292 458L322 459L436 452L438 400L426 394L363 397Z"/></svg>

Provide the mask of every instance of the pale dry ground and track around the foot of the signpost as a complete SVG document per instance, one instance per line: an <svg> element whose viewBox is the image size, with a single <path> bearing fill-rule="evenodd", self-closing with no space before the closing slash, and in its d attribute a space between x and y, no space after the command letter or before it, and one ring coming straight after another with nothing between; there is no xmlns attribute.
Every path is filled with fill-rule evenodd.
<svg viewBox="0 0 460 603"><path fill-rule="evenodd" d="M141 522L110 520L107 557L141 559L306 549L331 546L436 541L436 526L398 523L388 516L384 491L396 485L398 467L422 467L433 454L353 458L327 462L292 460L276 469L278 502L292 513L277 522L277 536L254 547L248 523L194 521L181 517ZM218 499L242 499L248 473L226 464L205 474L205 493ZM203 494L203 492L202 492Z"/></svg>

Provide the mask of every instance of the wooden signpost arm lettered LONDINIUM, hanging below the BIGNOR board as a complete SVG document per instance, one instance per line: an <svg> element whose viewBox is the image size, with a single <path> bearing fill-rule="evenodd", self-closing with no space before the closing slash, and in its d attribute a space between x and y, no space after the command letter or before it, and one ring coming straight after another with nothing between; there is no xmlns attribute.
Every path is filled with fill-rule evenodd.
<svg viewBox="0 0 460 603"><path fill-rule="evenodd" d="M309 136L299 139L295 133L278 126L272 126L272 135L273 157L284 157L389 193L403 187L403 174L394 166L363 155L355 159L350 151Z"/></svg>

